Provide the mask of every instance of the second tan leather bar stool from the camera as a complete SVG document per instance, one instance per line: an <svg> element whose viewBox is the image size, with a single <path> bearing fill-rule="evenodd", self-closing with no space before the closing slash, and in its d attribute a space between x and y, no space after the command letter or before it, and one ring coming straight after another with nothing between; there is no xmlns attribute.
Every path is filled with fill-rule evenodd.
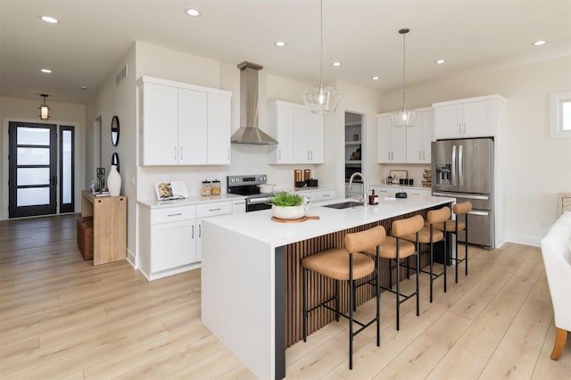
<svg viewBox="0 0 571 380"><path fill-rule="evenodd" d="M401 303L410 299L413 295L417 296L417 317L420 315L420 308L418 303L418 275L419 275L419 268L420 268L420 256L418 255L418 231L422 229L424 226L424 219L420 215L415 215L412 218L408 219L401 219L401 220L394 220L391 226L391 236L387 236L385 241L380 244L379 246L379 256L385 259L389 259L389 286L385 287L380 285L381 289L384 289L388 292L395 294L396 300L396 329L397 331L400 328L399 319L400 319L400 310L401 310ZM407 240L404 240L402 236L404 235L415 235L415 244L410 243ZM370 252L369 252L370 253ZM401 293L401 270L400 268L410 268L410 266L403 265L401 263L402 259L410 258L410 256L416 254L417 255L417 289L414 293L410 294L402 294ZM396 291L393 290L393 261L396 263ZM407 272L408 273L408 272ZM401 300L401 297L404 297Z"/></svg>

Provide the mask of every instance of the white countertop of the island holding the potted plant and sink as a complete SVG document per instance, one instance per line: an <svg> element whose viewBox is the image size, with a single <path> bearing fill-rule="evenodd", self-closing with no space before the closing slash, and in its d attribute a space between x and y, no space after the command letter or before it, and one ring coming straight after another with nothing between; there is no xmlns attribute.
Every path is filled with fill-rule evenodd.
<svg viewBox="0 0 571 380"><path fill-rule="evenodd" d="M327 204L344 201L337 199ZM208 219L207 222L277 247L453 201L453 198L421 195L392 201L381 198L375 206L358 206L343 210L313 204L310 205L307 215L318 215L320 219L308 219L300 223L272 221L271 210L223 215Z"/></svg>

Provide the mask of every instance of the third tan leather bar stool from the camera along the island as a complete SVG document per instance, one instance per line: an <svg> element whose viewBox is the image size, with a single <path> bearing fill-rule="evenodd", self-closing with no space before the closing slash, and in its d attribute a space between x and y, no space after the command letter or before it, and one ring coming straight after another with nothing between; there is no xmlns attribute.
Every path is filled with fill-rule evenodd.
<svg viewBox="0 0 571 380"><path fill-rule="evenodd" d="M446 224L446 220L450 217L450 207L443 207L439 210L432 210L426 213L425 227L422 227L418 231L418 243L430 244L430 270L426 271L420 269L420 272L430 275L430 303L433 300L433 283L438 277L444 277L444 293L446 293L446 262L444 262L443 270L440 273L434 273L434 243L444 242L444 252L446 252L446 239L444 239L443 231L434 228L434 224L440 223L443 226ZM427 227L426 227L427 225ZM416 241L416 235L404 235L401 236L410 242ZM446 261L444 259L444 261Z"/></svg>

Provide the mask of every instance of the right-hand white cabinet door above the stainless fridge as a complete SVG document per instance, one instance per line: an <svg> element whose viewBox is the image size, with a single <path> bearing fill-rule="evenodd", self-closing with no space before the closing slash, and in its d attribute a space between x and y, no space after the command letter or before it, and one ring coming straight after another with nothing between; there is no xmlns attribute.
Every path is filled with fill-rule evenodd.
<svg viewBox="0 0 571 380"><path fill-rule="evenodd" d="M495 134L492 101L465 103L462 115L464 137L487 137Z"/></svg>

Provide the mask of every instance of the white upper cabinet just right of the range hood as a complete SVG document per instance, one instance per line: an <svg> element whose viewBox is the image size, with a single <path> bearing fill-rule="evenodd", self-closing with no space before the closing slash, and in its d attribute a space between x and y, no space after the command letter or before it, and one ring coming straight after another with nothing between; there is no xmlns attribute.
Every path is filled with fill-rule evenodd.
<svg viewBox="0 0 571 380"><path fill-rule="evenodd" d="M272 101L268 104L269 135L277 145L269 149L269 163L323 163L323 116L304 105Z"/></svg>

